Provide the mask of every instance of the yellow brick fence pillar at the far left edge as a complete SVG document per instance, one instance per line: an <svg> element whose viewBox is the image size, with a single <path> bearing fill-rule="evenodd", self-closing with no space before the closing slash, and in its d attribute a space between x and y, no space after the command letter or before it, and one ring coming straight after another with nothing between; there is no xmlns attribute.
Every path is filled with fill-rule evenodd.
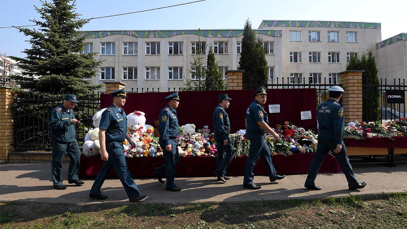
<svg viewBox="0 0 407 229"><path fill-rule="evenodd" d="M0 87L0 163L9 160L14 149L14 110L11 104L15 97L9 87Z"/></svg>

